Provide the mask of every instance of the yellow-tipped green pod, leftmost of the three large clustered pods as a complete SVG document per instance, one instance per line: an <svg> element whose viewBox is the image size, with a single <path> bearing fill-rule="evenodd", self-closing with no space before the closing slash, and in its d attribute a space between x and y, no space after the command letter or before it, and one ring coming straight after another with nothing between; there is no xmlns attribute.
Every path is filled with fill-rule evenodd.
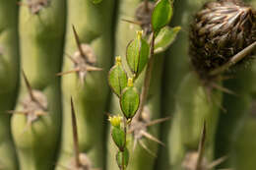
<svg viewBox="0 0 256 170"><path fill-rule="evenodd" d="M119 97L122 90L127 86L127 75L122 67L120 57L116 57L116 64L108 73L108 84Z"/></svg>

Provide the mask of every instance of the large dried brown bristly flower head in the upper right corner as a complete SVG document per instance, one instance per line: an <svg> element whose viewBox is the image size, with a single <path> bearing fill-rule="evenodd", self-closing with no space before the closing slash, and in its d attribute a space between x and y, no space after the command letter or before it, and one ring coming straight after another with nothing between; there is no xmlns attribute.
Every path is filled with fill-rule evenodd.
<svg viewBox="0 0 256 170"><path fill-rule="evenodd" d="M256 40L256 12L238 0L208 2L195 16L190 31L190 56L203 80L210 71Z"/></svg>

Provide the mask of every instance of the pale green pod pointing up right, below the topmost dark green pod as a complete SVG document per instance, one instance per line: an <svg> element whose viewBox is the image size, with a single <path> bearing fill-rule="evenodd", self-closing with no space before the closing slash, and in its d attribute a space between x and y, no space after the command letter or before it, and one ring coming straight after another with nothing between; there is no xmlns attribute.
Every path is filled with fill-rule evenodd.
<svg viewBox="0 0 256 170"><path fill-rule="evenodd" d="M163 52L175 40L180 27L169 28L164 27L160 29L158 36L155 39L155 53Z"/></svg>

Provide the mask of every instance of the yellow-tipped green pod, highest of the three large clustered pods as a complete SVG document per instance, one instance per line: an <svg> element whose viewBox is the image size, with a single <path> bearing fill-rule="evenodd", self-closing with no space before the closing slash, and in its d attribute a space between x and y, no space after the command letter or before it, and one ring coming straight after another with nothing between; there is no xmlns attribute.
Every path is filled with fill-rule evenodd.
<svg viewBox="0 0 256 170"><path fill-rule="evenodd" d="M133 39L126 49L127 63L136 76L145 68L149 60L150 45L142 38L142 31L137 32L137 37Z"/></svg>

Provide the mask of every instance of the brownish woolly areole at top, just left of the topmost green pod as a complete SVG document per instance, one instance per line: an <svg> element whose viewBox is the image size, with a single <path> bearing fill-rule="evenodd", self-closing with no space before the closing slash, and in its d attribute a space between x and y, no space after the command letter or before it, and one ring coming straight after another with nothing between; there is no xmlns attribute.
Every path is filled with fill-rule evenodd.
<svg viewBox="0 0 256 170"><path fill-rule="evenodd" d="M151 16L154 10L153 2L142 2L136 9L135 18L140 23L141 28L148 35L152 32Z"/></svg>

